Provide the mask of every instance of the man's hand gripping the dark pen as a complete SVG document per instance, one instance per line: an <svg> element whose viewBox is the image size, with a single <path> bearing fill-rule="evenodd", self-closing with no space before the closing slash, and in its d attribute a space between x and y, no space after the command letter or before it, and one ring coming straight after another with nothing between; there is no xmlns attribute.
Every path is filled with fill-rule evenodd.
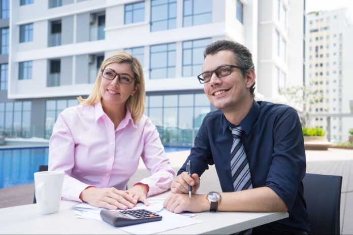
<svg viewBox="0 0 353 235"><path fill-rule="evenodd" d="M195 194L200 187L200 178L198 174L194 173L190 177L187 172L181 173L172 182L170 191L173 193L189 193L189 185L192 186L191 193Z"/></svg>

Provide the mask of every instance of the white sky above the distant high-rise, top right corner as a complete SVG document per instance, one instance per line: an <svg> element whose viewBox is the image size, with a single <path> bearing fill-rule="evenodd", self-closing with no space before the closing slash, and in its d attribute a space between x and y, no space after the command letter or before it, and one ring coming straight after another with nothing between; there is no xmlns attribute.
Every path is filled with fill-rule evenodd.
<svg viewBox="0 0 353 235"><path fill-rule="evenodd" d="M306 0L306 13L320 10L335 10L348 8L350 15L353 15L353 0Z"/></svg>

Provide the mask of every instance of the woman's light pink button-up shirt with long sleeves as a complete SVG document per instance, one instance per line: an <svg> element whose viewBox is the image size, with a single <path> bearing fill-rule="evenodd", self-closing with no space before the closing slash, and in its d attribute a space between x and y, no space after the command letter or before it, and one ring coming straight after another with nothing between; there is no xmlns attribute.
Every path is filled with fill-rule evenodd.
<svg viewBox="0 0 353 235"><path fill-rule="evenodd" d="M65 171L66 200L81 202L79 196L88 186L124 190L140 156L151 174L139 181L149 186L147 196L168 190L175 172L150 119L143 115L134 122L126 108L115 130L101 103L63 110L49 142L49 170Z"/></svg>

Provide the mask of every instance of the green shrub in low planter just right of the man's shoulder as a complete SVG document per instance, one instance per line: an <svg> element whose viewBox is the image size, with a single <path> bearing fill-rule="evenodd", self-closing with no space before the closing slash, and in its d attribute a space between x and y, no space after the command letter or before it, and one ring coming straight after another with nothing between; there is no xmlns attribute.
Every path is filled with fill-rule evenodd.
<svg viewBox="0 0 353 235"><path fill-rule="evenodd" d="M327 150L333 146L326 138L324 131L319 127L303 127L304 147L306 150Z"/></svg>

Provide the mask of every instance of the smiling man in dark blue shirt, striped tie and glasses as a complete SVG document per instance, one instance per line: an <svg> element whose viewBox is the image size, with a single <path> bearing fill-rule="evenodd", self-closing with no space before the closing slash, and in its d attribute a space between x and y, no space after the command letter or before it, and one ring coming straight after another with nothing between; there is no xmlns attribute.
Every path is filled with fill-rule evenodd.
<svg viewBox="0 0 353 235"><path fill-rule="evenodd" d="M306 161L296 110L254 100L254 65L245 46L217 41L206 47L204 56L198 79L218 110L206 115L164 206L175 213L288 212L288 218L255 227L252 233L306 234L309 223L302 183ZM185 172L189 160L191 177ZM223 192L195 194L199 176L213 164ZM188 185L194 194L191 198L186 194Z"/></svg>

